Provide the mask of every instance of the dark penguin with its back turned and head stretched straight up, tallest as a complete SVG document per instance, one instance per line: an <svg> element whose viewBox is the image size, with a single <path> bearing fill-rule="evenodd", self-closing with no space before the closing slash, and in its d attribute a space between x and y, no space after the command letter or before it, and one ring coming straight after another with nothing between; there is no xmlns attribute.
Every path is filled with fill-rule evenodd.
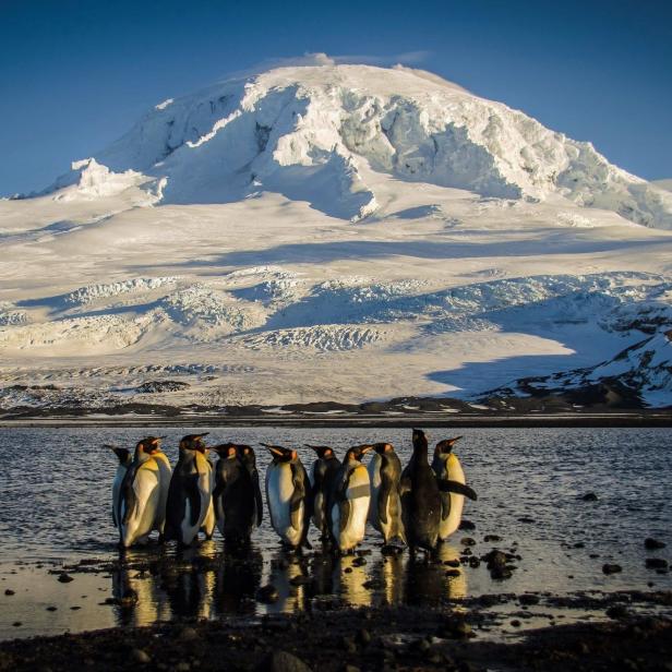
<svg viewBox="0 0 672 672"><path fill-rule="evenodd" d="M411 553L418 548L432 552L439 539L441 492L428 461L424 432L413 430L412 441L413 454L401 472L401 518Z"/></svg>

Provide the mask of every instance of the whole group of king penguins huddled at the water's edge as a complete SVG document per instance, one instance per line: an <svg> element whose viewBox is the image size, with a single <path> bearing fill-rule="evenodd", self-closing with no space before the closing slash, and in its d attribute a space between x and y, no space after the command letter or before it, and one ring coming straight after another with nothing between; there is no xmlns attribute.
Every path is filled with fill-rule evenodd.
<svg viewBox="0 0 672 672"><path fill-rule="evenodd" d="M206 446L206 435L180 441L175 470L161 451L163 436L143 439L133 453L108 446L119 458L112 520L122 548L145 543L153 531L159 541L189 547L200 531L212 538L215 527L227 542L249 542L263 517L254 451L235 443ZM296 449L262 444L273 460L266 470L271 524L293 549L310 548L312 519L321 539L340 553L361 543L367 523L385 544L398 540L411 552L431 552L459 527L465 496L477 499L453 452L459 439L439 442L430 465L428 439L413 430L404 470L389 443L352 446L343 460L329 446L307 445L316 454L310 473ZM364 466L362 458L371 452ZM216 464L211 453L218 455Z"/></svg>

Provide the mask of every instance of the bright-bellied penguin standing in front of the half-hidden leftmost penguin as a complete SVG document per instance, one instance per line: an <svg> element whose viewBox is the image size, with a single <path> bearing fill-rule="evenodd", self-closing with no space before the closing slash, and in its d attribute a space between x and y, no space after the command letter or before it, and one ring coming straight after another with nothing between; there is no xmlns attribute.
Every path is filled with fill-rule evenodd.
<svg viewBox="0 0 672 672"><path fill-rule="evenodd" d="M160 502L160 470L152 445L140 441L119 489L119 543L128 549L146 543L155 529Z"/></svg>

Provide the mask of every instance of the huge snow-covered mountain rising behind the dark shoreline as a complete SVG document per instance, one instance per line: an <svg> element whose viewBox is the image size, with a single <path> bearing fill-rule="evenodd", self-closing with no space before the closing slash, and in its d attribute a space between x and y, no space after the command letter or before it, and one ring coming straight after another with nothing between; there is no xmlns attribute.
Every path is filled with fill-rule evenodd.
<svg viewBox="0 0 672 672"><path fill-rule="evenodd" d="M0 405L475 398L588 370L672 326L671 230L669 191L430 73L233 79L0 202Z"/></svg>

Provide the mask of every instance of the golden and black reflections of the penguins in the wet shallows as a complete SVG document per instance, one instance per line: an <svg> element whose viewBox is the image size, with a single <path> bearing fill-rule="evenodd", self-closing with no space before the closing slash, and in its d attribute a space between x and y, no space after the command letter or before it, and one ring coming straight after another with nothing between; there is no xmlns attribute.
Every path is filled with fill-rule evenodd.
<svg viewBox="0 0 672 672"><path fill-rule="evenodd" d="M221 548L208 541L195 549L128 551L112 572L117 621L141 626L170 619L293 613L313 600L333 599L344 607L379 604L434 605L467 595L460 549L440 547L428 561L407 552L334 556L326 549L301 555L277 550L264 562L254 544ZM255 597L271 584L277 600Z"/></svg>

